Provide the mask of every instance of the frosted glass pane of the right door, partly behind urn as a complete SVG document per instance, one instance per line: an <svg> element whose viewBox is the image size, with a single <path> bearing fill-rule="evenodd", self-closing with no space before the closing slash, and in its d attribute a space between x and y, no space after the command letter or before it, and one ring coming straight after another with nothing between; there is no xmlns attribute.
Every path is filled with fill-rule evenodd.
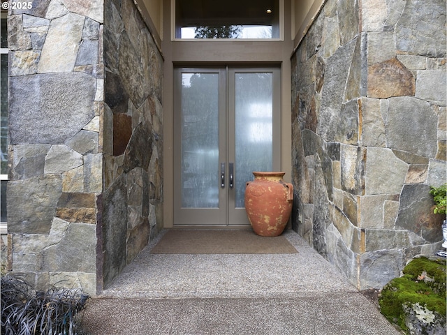
<svg viewBox="0 0 447 335"><path fill-rule="evenodd" d="M273 74L235 74L236 207L244 207L246 181L254 171L272 171Z"/></svg>

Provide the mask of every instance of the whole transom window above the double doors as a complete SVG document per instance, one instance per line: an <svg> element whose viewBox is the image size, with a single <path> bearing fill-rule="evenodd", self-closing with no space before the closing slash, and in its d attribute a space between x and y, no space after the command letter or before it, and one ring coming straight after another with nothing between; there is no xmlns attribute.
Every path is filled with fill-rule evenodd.
<svg viewBox="0 0 447 335"><path fill-rule="evenodd" d="M175 38L280 38L282 0L173 1Z"/></svg>

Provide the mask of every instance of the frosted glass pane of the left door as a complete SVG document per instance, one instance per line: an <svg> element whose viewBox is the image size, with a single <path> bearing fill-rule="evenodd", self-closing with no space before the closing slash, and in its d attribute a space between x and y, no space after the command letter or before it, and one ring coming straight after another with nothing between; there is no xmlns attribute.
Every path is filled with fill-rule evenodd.
<svg viewBox="0 0 447 335"><path fill-rule="evenodd" d="M182 73L182 207L219 207L217 73Z"/></svg>

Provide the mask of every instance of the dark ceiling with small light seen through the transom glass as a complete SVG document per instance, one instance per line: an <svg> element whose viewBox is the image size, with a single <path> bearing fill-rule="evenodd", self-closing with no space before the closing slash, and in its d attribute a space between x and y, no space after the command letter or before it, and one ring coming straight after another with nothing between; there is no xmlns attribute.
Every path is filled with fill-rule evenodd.
<svg viewBox="0 0 447 335"><path fill-rule="evenodd" d="M182 27L210 24L271 25L279 0L177 0L176 17ZM267 10L271 13L267 13Z"/></svg>

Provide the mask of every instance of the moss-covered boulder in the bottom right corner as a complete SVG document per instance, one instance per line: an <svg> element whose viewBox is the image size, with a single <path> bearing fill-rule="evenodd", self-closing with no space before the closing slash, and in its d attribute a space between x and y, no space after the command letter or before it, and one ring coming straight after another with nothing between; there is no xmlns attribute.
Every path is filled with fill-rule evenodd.
<svg viewBox="0 0 447 335"><path fill-rule="evenodd" d="M446 334L446 260L415 258L385 285L381 313L406 334Z"/></svg>

